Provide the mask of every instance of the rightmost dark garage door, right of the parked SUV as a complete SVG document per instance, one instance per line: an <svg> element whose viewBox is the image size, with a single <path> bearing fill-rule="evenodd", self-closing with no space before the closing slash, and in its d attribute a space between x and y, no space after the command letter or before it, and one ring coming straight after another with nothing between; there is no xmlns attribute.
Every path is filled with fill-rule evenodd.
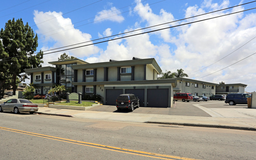
<svg viewBox="0 0 256 160"><path fill-rule="evenodd" d="M147 91L147 107L168 107L168 88L148 89Z"/></svg>

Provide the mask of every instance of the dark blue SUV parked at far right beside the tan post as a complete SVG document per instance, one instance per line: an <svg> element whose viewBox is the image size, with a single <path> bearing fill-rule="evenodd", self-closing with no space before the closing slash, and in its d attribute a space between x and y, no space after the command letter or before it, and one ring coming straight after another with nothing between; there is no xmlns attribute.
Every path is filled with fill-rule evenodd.
<svg viewBox="0 0 256 160"><path fill-rule="evenodd" d="M241 94L241 93L234 93L228 94L226 97L225 103L229 105L236 105L236 104L247 104L247 98L252 97L251 94Z"/></svg>

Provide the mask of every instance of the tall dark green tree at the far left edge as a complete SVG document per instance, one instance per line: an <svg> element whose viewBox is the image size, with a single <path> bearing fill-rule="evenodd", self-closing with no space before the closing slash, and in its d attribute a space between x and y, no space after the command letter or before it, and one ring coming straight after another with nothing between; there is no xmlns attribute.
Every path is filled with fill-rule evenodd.
<svg viewBox="0 0 256 160"><path fill-rule="evenodd" d="M5 28L0 31L0 93L13 86L13 95L18 82L28 79L25 69L41 67L43 52L34 55L37 43L37 35L22 19L8 20Z"/></svg>

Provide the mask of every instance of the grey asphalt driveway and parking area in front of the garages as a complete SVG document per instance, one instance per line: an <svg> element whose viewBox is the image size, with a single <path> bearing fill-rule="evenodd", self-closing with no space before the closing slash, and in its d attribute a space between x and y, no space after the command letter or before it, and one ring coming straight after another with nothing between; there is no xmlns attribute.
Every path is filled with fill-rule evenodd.
<svg viewBox="0 0 256 160"><path fill-rule="evenodd" d="M196 106L195 106L196 105ZM140 107L136 108L133 113L141 113L141 114L162 114L162 115L174 115L174 116L203 116L203 117L211 117L205 110L197 107L200 105L206 109L243 109L247 108L247 105L234 105L230 106L224 101L200 101L200 102L182 102L176 101L173 107L171 108L150 108L150 107ZM110 105L101 105L92 107L88 110L91 111L101 111L101 112L123 112L130 113L129 110L121 110L118 111L116 106Z"/></svg>

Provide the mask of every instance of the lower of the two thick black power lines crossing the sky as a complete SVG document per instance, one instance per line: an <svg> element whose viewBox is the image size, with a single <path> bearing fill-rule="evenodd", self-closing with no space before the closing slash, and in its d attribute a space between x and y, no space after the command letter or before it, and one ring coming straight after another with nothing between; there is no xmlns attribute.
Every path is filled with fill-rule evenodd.
<svg viewBox="0 0 256 160"><path fill-rule="evenodd" d="M169 28L184 26L184 25L187 25L187 24L193 24L193 23L196 23L196 22L202 22L202 21L205 21L205 20L210 20L210 19L214 19L214 18L224 17L224 16L227 16L227 15L233 15L233 14L236 14L236 13L241 13L241 12L249 11L249 10L252 10L252 9L256 9L256 7L250 8L250 9L246 9L246 10L243 10L243 11L237 11L237 12L234 12L234 13L229 13L229 14L226 14L226 15L220 15L220 16L217 16L217 17L211 17L211 18L206 18L206 19L203 19L203 20L197 20L197 21L189 22L189 23L185 23L185 24L179 24L179 25L176 25L176 26L156 29L156 30L147 31L147 32L143 32L143 33L138 33L138 34L134 34L134 35L127 35L125 37L119 37L119 38L116 38L116 39L110 39L110 40L105 40L105 41L102 41L102 42L96 42L96 43L92 43L92 44L87 44L87 45L84 45L84 46L77 46L77 47L68 48L68 49L65 49L65 50L53 51L53 52L50 52L50 53L43 53L43 55L47 55L47 54L51 54L51 53L56 53L56 52L60 52L60 51L72 50L72 49L76 49L76 48L81 48L81 47L90 46L90 45L94 45L94 44L99 44L99 43L103 43L103 42L109 42L109 41L112 41L112 40L123 39L123 38L132 37L132 36L136 36L136 35L142 35L142 34L145 34L145 33L151 33L151 32L160 31L160 30L163 30L163 29L169 29ZM39 52L37 52L37 53L39 53ZM36 53L33 53L33 54L36 54ZM36 55L34 55L34 56L36 56ZM30 56L30 57L34 57L34 56ZM19 57L19 56L16 56L16 57ZM9 57L9 58L15 58L15 57ZM10 61L10 60L5 60L5 61Z"/></svg>

